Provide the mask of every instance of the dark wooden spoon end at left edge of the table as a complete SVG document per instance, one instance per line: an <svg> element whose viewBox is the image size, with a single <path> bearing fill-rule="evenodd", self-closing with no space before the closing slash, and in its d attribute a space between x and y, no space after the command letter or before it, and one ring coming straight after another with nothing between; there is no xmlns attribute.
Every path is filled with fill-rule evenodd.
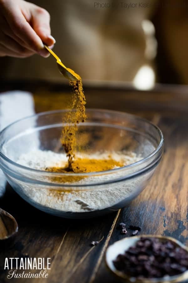
<svg viewBox="0 0 188 283"><path fill-rule="evenodd" d="M6 240L18 232L15 218L0 208L0 241Z"/></svg>

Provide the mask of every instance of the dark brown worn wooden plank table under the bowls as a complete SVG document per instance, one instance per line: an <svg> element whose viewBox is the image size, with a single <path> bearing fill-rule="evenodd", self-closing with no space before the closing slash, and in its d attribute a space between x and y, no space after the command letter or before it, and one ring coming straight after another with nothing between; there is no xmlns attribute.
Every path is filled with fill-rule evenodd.
<svg viewBox="0 0 188 283"><path fill-rule="evenodd" d="M64 108L70 91L47 83L1 84L1 91L8 89L32 91L36 112ZM188 244L188 88L159 86L139 92L131 87L86 87L85 94L88 108L126 111L157 124L165 136L161 166L128 207L88 220L61 219L40 212L7 185L0 207L17 219L19 231L14 241L0 246L1 283L118 282L108 272L104 254L108 245L125 237L117 229L120 222L140 226L143 234L172 236ZM99 245L90 246L103 236ZM8 272L3 270L5 257L51 258L48 279L8 280Z"/></svg>

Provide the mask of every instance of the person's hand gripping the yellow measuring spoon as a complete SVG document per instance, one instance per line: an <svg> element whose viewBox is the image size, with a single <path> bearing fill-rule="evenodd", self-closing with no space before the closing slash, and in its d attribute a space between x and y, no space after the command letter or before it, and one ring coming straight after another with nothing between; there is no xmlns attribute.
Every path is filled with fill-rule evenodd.
<svg viewBox="0 0 188 283"><path fill-rule="evenodd" d="M25 58L38 53L48 57L43 42L53 46L50 14L24 0L0 0L0 56Z"/></svg>

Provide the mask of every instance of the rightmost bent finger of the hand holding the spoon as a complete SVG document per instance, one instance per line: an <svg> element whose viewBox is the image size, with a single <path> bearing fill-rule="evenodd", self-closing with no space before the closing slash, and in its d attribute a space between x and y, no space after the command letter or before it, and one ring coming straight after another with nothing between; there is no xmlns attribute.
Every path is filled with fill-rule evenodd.
<svg viewBox="0 0 188 283"><path fill-rule="evenodd" d="M32 10L32 27L36 34L47 46L55 43L55 39L50 35L50 14L43 8L35 6Z"/></svg>

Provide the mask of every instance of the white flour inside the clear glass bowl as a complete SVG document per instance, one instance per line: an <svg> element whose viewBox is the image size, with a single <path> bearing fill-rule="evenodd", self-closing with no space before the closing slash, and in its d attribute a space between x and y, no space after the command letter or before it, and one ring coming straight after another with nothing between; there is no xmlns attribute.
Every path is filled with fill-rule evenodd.
<svg viewBox="0 0 188 283"><path fill-rule="evenodd" d="M102 159L107 158L108 155L109 153L96 153L93 155L90 154L88 157ZM124 165L132 164L141 159L136 156L135 153L129 153L127 155L113 153L111 156L113 159L123 162ZM67 158L65 154L35 150L27 154L22 154L17 163L33 169L44 169L45 167L63 166L66 161ZM118 172L114 174L116 177L119 177ZM100 181L103 182L104 180L111 180L111 178L111 174L91 176L79 180L76 183L81 185ZM145 178L146 176L144 176L144 179ZM109 208L125 200L139 190L142 179L143 177L138 177L137 180L131 180L126 183L124 182L123 184L109 184L103 189L100 188L98 190L94 187L94 189L88 191L83 191L83 187L81 187L80 191L59 192L49 190L47 187L37 187L36 185L22 184L20 186L22 187L24 194L31 198L35 203L65 212L86 212Z"/></svg>

